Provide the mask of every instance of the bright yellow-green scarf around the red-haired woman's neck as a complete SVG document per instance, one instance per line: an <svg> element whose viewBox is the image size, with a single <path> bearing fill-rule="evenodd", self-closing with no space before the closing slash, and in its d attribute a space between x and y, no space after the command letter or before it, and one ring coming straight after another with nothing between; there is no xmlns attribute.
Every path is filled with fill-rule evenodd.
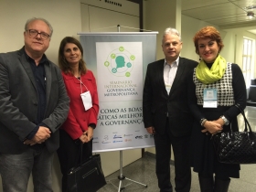
<svg viewBox="0 0 256 192"><path fill-rule="evenodd" d="M204 84L209 84L220 80L224 75L226 68L227 61L220 55L217 57L217 59L215 59L210 69L208 69L205 61L201 60L196 69L197 80Z"/></svg>

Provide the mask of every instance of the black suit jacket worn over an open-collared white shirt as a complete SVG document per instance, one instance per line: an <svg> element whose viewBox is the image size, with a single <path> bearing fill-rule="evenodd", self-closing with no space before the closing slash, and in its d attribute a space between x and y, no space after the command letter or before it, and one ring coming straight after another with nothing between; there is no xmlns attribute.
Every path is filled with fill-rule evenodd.
<svg viewBox="0 0 256 192"><path fill-rule="evenodd" d="M193 117L187 106L187 75L197 62L179 58L176 78L170 93L165 90L165 59L150 63L144 80L143 114L144 127L155 127L156 133L165 133L168 116L171 133L185 136L191 132Z"/></svg>

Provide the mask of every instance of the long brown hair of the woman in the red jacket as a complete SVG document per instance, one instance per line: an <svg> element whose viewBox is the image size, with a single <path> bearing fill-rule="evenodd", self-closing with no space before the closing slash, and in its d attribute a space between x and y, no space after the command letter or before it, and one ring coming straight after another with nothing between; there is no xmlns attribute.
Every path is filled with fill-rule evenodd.
<svg viewBox="0 0 256 192"><path fill-rule="evenodd" d="M65 59L65 56L64 56L64 48L68 43L73 43L80 49L81 59L79 62L79 69L80 69L81 74L85 74L87 69L86 69L86 63L82 58L83 48L80 45L80 41L74 37L64 37L60 42L60 45L59 45L59 68L66 74L68 74L68 73L74 74L74 70L70 67L68 61Z"/></svg>

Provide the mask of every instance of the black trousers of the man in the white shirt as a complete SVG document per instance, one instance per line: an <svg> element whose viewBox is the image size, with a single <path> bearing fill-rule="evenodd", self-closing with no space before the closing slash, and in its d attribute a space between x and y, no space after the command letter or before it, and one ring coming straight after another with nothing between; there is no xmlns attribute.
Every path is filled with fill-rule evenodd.
<svg viewBox="0 0 256 192"><path fill-rule="evenodd" d="M173 191L170 182L171 145L175 156L176 192L188 192L191 187L189 165L190 136L175 137L167 121L165 133L155 133L156 176L161 192Z"/></svg>

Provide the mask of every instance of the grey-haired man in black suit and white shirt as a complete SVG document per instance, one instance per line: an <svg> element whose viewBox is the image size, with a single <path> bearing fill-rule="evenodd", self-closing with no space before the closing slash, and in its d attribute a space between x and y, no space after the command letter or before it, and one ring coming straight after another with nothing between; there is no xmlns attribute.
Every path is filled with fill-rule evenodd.
<svg viewBox="0 0 256 192"><path fill-rule="evenodd" d="M144 127L154 134L156 176L161 192L173 191L170 182L171 145L175 156L177 192L191 186L189 137L192 116L187 106L187 74L197 62L179 57L182 41L175 28L166 28L162 48L165 59L150 63L144 81Z"/></svg>

